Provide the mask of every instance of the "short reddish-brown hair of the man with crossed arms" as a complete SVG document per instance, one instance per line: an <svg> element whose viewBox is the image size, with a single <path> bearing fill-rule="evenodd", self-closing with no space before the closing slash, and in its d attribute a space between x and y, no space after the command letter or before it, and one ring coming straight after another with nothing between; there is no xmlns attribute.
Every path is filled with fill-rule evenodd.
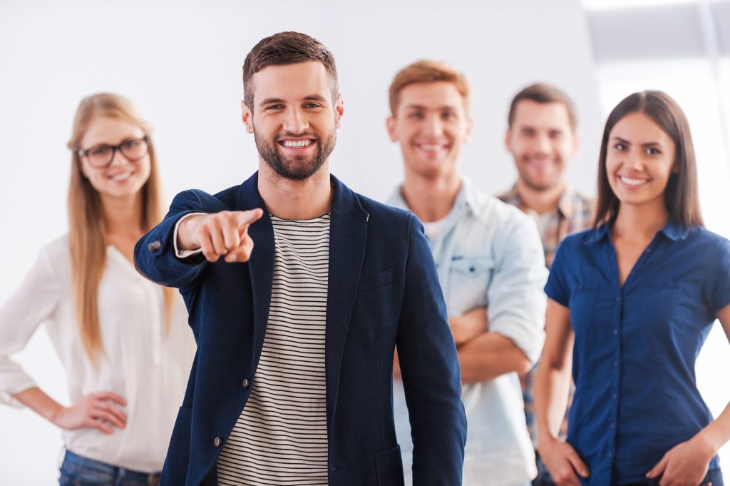
<svg viewBox="0 0 730 486"><path fill-rule="evenodd" d="M464 97L464 107L469 110L469 81L461 72L442 61L421 59L401 69L391 83L391 115L396 115L400 94L403 88L415 83L453 83L459 94Z"/></svg>

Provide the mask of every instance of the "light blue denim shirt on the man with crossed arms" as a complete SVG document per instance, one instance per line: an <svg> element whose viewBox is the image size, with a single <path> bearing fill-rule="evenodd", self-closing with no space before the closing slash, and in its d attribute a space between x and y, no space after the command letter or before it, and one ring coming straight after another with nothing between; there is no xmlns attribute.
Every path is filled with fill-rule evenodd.
<svg viewBox="0 0 730 486"><path fill-rule="evenodd" d="M388 204L409 209L400 188ZM489 331L510 338L537 362L545 341L542 289L548 270L534 220L463 180L439 235L429 243L449 316L486 307ZM514 486L534 478L534 449L517 373L464 385L462 400L469 422L464 486ZM400 381L394 384L393 401L408 482L412 444Z"/></svg>

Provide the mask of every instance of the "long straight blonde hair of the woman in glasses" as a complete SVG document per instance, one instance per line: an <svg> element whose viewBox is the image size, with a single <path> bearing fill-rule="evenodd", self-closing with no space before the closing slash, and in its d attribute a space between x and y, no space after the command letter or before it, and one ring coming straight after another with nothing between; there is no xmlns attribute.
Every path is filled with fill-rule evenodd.
<svg viewBox="0 0 730 486"><path fill-rule="evenodd" d="M137 107L128 99L116 94L99 93L82 99L69 140L71 156L71 183L69 184L69 246L71 251L72 282L76 320L86 354L96 363L104 354L104 343L99 329L98 289L107 262L107 246L104 243L104 208L96 189L81 172L78 151L81 139L94 118L117 118L139 126L145 135L151 127L139 115ZM161 186L155 147L150 139L150 178L142 186L142 228L149 230L164 216ZM164 289L165 332L169 332L174 293Z"/></svg>

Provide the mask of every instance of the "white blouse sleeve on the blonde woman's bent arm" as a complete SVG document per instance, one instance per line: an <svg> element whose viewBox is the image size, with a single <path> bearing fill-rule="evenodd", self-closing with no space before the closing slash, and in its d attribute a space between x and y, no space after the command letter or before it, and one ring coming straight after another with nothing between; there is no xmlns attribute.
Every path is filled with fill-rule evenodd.
<svg viewBox="0 0 730 486"><path fill-rule="evenodd" d="M37 386L10 356L20 352L39 325L53 316L60 298L58 281L42 251L15 293L0 306L0 403L22 406L10 395Z"/></svg>

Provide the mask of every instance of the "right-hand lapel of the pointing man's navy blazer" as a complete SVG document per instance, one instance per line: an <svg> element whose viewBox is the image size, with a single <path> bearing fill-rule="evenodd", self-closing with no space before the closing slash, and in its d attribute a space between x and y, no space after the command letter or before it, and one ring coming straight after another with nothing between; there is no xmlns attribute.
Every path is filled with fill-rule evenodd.
<svg viewBox="0 0 730 486"><path fill-rule="evenodd" d="M368 219L368 213L355 193L334 176L331 176L331 181L335 194L330 220L325 343L327 430L330 437L337 405L342 351L365 256Z"/></svg>

